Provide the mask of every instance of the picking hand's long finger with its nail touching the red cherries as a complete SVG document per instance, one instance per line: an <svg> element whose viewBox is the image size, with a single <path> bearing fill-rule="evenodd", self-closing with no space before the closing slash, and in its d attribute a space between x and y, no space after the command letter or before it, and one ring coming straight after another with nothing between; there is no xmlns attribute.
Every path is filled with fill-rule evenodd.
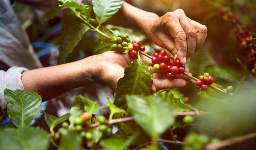
<svg viewBox="0 0 256 150"><path fill-rule="evenodd" d="M168 30L168 32L175 41L175 46L177 49L177 58L180 60L182 64L186 64L187 37L182 26L180 25L180 13L174 11L169 12L168 14L170 16L168 17L167 22L165 22L166 29Z"/></svg>

